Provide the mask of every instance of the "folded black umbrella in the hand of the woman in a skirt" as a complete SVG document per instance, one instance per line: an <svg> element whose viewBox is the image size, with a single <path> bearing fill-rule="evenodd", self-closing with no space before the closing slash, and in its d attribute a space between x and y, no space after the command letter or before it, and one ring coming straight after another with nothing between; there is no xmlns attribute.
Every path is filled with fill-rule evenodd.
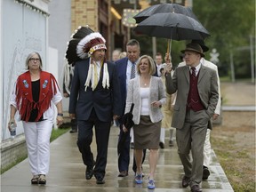
<svg viewBox="0 0 256 192"><path fill-rule="evenodd" d="M117 145L117 153L118 155L120 154L120 151L121 149L123 148L124 146L124 142L127 138L127 136L129 135L129 131L130 129L132 128L132 126L134 125L134 122L132 121L132 110L133 110L133 107L134 107L134 103L132 103L132 106L130 108L130 111L126 114L124 114L123 116L123 124L124 126L126 127L126 129L128 130L128 132L124 132L123 129L122 131L120 132L120 137L119 137L119 142L118 142L118 145ZM121 125L122 126L122 125Z"/></svg>

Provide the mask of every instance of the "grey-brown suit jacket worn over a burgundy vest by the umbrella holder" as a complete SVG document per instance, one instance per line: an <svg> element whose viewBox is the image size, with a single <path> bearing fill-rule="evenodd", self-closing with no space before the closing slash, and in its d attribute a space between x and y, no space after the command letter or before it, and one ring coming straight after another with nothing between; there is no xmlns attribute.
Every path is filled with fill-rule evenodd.
<svg viewBox="0 0 256 192"><path fill-rule="evenodd" d="M181 129L185 122L187 100L189 92L189 67L176 68L173 76L166 74L166 91L169 94L177 92L177 99L173 108L172 127ZM201 65L197 83L198 93L209 120L214 114L219 92L217 74L212 68ZM212 128L212 127L209 127Z"/></svg>

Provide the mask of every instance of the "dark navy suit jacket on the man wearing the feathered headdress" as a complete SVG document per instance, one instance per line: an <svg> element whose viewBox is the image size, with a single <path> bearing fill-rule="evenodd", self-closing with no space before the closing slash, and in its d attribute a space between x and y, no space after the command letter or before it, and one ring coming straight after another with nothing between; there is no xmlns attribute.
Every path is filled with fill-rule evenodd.
<svg viewBox="0 0 256 192"><path fill-rule="evenodd" d="M85 89L85 81L89 70L90 59L79 60L75 65L75 72L72 79L71 92L69 98L70 114L76 114L77 120L88 120L92 108L103 122L112 121L113 115L121 115L121 93L119 80L116 74L116 65L107 61L110 87L102 87L102 71L100 71L100 81L96 89L92 92L90 87Z"/></svg>

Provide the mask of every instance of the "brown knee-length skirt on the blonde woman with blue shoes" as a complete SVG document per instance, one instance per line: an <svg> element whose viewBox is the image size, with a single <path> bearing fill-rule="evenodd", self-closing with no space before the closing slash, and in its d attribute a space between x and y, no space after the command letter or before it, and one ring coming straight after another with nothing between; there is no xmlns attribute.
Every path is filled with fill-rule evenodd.
<svg viewBox="0 0 256 192"><path fill-rule="evenodd" d="M134 124L134 148L159 148L161 121L152 123L149 116L140 116L140 124Z"/></svg>

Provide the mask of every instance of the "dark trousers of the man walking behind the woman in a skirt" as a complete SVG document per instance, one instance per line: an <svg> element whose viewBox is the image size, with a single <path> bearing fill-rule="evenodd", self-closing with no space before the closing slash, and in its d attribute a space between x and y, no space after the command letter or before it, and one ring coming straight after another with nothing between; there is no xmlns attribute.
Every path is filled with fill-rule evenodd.
<svg viewBox="0 0 256 192"><path fill-rule="evenodd" d="M131 137L130 137L130 131L124 133L123 132L123 128L121 128L122 126L120 125L120 133L119 133L119 140L118 142L120 142L121 138L124 137L124 134L126 134L126 138L124 140L124 142L122 142L122 148L120 148L117 152L118 152L118 169L119 172L122 171L129 171L129 164L130 164L130 142L131 142ZM143 159L142 159L142 164L145 160L145 156L146 156L146 149L143 150ZM136 172L137 170L137 165L135 162L135 157L133 157L133 164L132 164L132 170L133 172Z"/></svg>

